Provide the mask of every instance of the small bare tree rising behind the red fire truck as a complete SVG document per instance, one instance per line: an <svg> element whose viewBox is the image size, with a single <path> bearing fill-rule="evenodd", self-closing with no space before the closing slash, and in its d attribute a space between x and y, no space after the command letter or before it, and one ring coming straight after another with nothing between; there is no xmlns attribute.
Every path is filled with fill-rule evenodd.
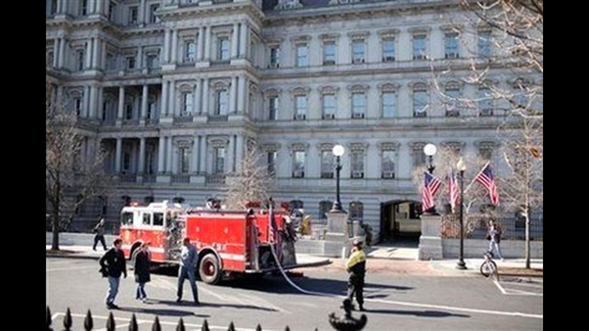
<svg viewBox="0 0 589 331"><path fill-rule="evenodd" d="M250 144L236 176L227 178L227 207L243 209L249 201L267 201L273 186L273 174L269 173L259 148Z"/></svg>

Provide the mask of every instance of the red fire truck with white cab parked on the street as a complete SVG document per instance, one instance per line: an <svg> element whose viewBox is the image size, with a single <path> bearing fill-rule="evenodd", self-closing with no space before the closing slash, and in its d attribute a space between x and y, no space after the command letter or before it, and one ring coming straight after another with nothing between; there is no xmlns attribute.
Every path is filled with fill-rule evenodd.
<svg viewBox="0 0 589 331"><path fill-rule="evenodd" d="M246 211L189 208L163 201L128 206L121 211L120 236L125 256L134 259L141 243L150 243L151 260L177 263L183 238L198 250L198 274L218 283L232 273L278 269L271 247L284 269L297 267L294 238L287 229L287 210L252 206Z"/></svg>

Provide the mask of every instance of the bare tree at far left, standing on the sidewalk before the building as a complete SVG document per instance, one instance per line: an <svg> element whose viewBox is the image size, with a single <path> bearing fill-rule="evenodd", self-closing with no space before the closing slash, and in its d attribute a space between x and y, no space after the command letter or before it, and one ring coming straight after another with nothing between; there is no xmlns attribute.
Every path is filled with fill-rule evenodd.
<svg viewBox="0 0 589 331"><path fill-rule="evenodd" d="M77 115L68 111L59 96L45 86L45 199L49 204L53 231L52 249L59 249L59 231L71 222L75 211L105 187L102 151L82 153L84 141Z"/></svg>

